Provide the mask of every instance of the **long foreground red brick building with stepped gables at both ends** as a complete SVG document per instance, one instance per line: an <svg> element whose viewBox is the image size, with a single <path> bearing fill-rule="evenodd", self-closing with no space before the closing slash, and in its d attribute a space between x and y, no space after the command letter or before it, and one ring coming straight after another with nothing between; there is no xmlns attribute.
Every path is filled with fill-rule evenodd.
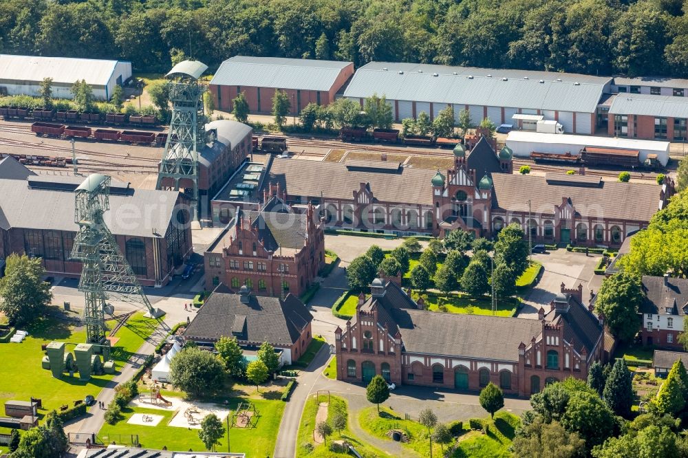
<svg viewBox="0 0 688 458"><path fill-rule="evenodd" d="M529 396L567 377L585 380L608 358L603 320L581 303L582 286L561 293L539 319L430 312L394 283L376 279L356 317L335 331L337 379L477 391L488 382Z"/></svg>

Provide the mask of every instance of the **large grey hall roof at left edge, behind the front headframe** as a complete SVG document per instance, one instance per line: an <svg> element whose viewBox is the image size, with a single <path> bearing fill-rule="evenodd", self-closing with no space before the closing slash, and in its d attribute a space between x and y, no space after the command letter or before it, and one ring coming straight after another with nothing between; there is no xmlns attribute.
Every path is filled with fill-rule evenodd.
<svg viewBox="0 0 688 458"><path fill-rule="evenodd" d="M4 165L0 164L0 175ZM83 181L84 177L61 175L0 179L0 228L78 231L73 191ZM105 224L114 235L164 237L179 196L179 191L133 189L112 182Z"/></svg>

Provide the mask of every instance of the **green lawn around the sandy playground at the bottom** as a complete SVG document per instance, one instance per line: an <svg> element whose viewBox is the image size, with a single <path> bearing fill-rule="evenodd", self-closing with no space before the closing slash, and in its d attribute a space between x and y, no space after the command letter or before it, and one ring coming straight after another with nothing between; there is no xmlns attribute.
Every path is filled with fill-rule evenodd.
<svg viewBox="0 0 688 458"><path fill-rule="evenodd" d="M245 401L242 398L230 399L230 408L236 408L240 401ZM279 429L279 422L282 417L285 403L280 400L260 400L251 398L250 401L255 404L257 411L259 411L259 419L256 428L232 428L230 430L230 446L231 450L237 452L246 452L247 457L263 458L272 456L275 450L275 441L277 440L277 430ZM163 415L164 418L160 421L158 426L138 426L127 424L127 420L134 413L147 413L154 415ZM122 410L124 416L119 422L114 425L105 424L98 433L98 437L103 442L111 443L116 441L118 443L126 443L129 441L131 435L138 434L138 440L142 447L148 448L162 448L166 446L169 450L189 450L191 448L195 451L205 450L205 446L198 438L197 429L184 429L175 426L166 426L172 419L173 412L165 412L156 409L127 407ZM183 415L183 412L178 415ZM217 450L227 450L227 436L225 432L224 438L220 441L222 445L217 446Z"/></svg>

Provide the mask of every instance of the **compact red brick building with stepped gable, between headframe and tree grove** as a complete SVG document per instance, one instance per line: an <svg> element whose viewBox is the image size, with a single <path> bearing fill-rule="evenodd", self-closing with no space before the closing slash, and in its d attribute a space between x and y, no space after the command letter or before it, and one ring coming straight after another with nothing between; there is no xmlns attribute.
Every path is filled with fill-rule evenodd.
<svg viewBox="0 0 688 458"><path fill-rule="evenodd" d="M206 288L225 283L261 296L300 296L325 262L323 229L312 206L295 213L276 195L258 210L236 208L204 253Z"/></svg>

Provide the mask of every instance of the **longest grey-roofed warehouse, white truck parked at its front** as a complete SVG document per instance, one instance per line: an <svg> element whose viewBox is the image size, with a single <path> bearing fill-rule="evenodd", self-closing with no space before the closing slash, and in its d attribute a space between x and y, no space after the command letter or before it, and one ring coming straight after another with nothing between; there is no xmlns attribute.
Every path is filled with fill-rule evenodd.
<svg viewBox="0 0 688 458"><path fill-rule="evenodd" d="M421 111L434 118L451 106L457 121L466 109L473 124L490 118L535 130L542 117L557 120L568 133L594 134L603 125L597 106L611 83L609 76L371 62L356 71L344 96L363 104L366 97L384 95L397 122Z"/></svg>

